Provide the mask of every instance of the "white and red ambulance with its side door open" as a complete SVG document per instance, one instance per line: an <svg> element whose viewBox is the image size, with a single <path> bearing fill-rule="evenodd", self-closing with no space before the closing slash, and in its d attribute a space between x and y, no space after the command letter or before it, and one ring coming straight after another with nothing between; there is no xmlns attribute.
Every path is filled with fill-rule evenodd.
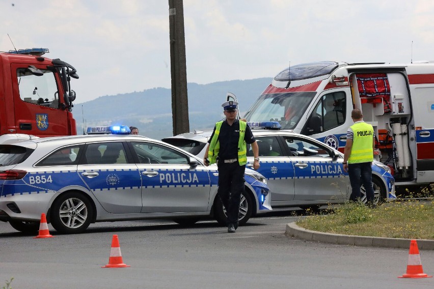
<svg viewBox="0 0 434 289"><path fill-rule="evenodd" d="M343 152L354 108L373 126L375 158L390 167L397 186L434 182L434 62L291 66L244 118L251 127L278 122Z"/></svg>

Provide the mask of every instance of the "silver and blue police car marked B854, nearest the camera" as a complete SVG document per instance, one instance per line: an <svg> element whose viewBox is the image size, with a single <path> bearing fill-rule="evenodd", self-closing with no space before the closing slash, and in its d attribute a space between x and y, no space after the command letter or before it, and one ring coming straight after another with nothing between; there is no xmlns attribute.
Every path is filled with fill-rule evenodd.
<svg viewBox="0 0 434 289"><path fill-rule="evenodd" d="M101 221L226 222L217 168L165 142L102 134L0 143L0 220L21 232L36 232L41 213L67 234ZM271 210L265 178L247 170L245 180L240 224Z"/></svg>

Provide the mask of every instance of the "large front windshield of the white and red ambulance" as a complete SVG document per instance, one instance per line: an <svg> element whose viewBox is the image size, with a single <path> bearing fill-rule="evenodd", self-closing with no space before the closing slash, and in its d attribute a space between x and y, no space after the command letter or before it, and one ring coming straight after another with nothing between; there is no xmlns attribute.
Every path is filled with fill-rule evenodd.
<svg viewBox="0 0 434 289"><path fill-rule="evenodd" d="M294 129L316 92L261 95L244 118L248 122L279 122L282 129Z"/></svg>

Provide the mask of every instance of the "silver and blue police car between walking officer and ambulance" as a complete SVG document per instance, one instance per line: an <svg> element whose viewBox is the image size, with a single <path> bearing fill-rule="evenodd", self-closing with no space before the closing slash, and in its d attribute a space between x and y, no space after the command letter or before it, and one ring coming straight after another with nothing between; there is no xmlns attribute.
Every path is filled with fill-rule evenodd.
<svg viewBox="0 0 434 289"><path fill-rule="evenodd" d="M314 138L279 130L279 123L250 123L259 147L260 172L272 193L274 211L291 207L318 208L349 199L351 187L343 170L343 154ZM267 129L255 129L267 128ZM162 139L203 158L212 131L185 133ZM253 152L248 146L248 167L253 166ZM372 165L374 202L395 199L390 168L380 162ZM362 201L366 202L362 186Z"/></svg>

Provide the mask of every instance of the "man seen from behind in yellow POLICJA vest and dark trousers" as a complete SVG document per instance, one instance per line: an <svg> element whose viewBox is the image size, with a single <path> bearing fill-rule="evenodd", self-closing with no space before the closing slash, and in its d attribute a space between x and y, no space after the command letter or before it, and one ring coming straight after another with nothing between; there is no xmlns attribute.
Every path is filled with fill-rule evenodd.
<svg viewBox="0 0 434 289"><path fill-rule="evenodd" d="M351 119L354 125L346 133L343 169L348 171L351 184L352 201L361 198L360 187L363 183L368 205L373 205L374 190L372 188L372 161L374 160L375 134L370 124L363 121L362 111L353 109Z"/></svg>

